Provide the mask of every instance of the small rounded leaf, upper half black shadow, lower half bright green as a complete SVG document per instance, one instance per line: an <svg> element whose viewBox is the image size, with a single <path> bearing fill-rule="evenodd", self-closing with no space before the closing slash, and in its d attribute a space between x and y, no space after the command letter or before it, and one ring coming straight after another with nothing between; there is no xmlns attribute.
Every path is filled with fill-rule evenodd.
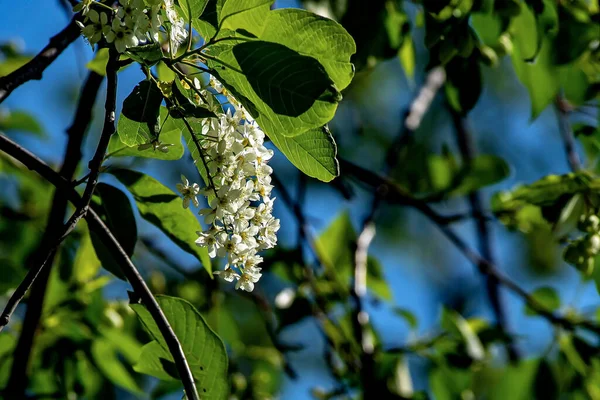
<svg viewBox="0 0 600 400"><path fill-rule="evenodd" d="M159 129L160 103L163 97L154 81L141 81L123 102L117 132L127 146L148 143Z"/></svg>

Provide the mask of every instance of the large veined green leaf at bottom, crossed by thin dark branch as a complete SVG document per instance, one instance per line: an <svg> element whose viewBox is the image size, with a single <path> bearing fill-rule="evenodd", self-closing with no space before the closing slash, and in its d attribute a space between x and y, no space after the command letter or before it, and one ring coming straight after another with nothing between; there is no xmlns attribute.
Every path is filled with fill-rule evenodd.
<svg viewBox="0 0 600 400"><path fill-rule="evenodd" d="M210 329L202 315L189 302L169 296L157 296L156 299L181 343L194 378L198 382L200 395L209 399L225 399L229 390L227 352L221 339ZM141 304L131 304L131 308L138 314L154 340L167 352L149 353L146 349L146 352L142 354L146 354L145 357L151 357L154 354L156 358L163 358L163 360L164 357L169 357L166 360L172 362L168 346L148 310ZM156 345L153 346L156 349ZM168 364L164 362L161 364L164 374L171 376L171 373L165 371L165 366ZM152 365L154 366L152 370L157 371L156 360L152 362ZM162 374L162 372L158 373Z"/></svg>

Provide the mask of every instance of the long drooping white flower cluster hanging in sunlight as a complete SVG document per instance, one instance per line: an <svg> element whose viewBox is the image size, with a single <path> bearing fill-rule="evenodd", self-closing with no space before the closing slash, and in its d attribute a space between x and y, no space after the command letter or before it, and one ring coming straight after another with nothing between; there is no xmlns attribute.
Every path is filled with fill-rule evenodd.
<svg viewBox="0 0 600 400"><path fill-rule="evenodd" d="M215 273L250 292L262 275L258 264L263 258L257 253L277 243L279 220L272 215L275 198L270 197L273 170L267 165L273 151L263 145L265 134L244 107L214 78L210 82L227 97L233 112L221 110L217 118L205 119L202 132L196 133L210 184L200 189L182 177L177 189L186 208L190 201L198 204L198 194L209 198L210 208L200 210L209 228L198 232L196 243L207 247L212 258L226 257L225 270ZM213 94L202 92L215 110Z"/></svg>

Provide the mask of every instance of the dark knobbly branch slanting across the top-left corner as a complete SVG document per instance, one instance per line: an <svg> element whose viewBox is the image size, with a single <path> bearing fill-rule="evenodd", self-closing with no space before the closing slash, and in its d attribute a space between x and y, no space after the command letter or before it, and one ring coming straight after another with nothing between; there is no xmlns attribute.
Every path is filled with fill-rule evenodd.
<svg viewBox="0 0 600 400"><path fill-rule="evenodd" d="M16 71L0 78L0 103L2 103L13 90L32 79L42 79L44 70L56 60L56 58L79 37L81 28L75 21L79 18L77 14L65 29L50 39L50 43L39 52L31 61Z"/></svg>

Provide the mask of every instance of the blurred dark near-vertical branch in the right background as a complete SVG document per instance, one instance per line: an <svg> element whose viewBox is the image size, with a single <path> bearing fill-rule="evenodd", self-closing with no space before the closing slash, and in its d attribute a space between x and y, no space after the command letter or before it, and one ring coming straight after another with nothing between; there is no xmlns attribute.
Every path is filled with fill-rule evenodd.
<svg viewBox="0 0 600 400"><path fill-rule="evenodd" d="M471 133L467 128L467 121L459 113L452 110L452 108L449 107L449 109L451 110L452 121L454 122L456 139L458 142L460 153L462 155L463 164L465 164L467 169L471 168L473 158L475 157L475 145L473 143ZM492 241L490 238L490 231L488 229L487 221L483 215L483 202L481 199L481 193L479 191L474 191L467 197L469 205L471 207L471 211L475 218L475 229L479 241L479 251L481 252L483 258L488 260L490 263L495 264L493 254L494 252L492 250ZM500 298L499 282L495 276L487 275L486 288L490 304L492 305L492 311L496 316L498 329L500 330L500 332L505 334L507 332L506 314L502 305L502 299ZM504 336L509 338L509 341L506 344L506 351L509 359L513 362L518 361L519 354L517 353L517 349L515 348L514 342L512 341L512 336Z"/></svg>

